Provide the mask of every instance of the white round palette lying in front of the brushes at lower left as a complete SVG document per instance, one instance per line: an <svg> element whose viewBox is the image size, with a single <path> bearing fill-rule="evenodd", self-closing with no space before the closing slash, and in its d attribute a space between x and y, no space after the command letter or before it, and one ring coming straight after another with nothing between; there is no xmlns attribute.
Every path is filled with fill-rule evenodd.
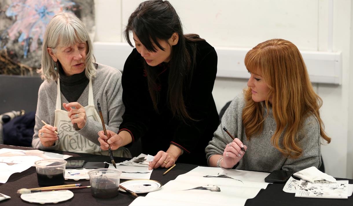
<svg viewBox="0 0 353 206"><path fill-rule="evenodd" d="M58 203L71 199L72 197L73 193L70 190L35 192L21 195L21 199L23 199L24 201L40 204Z"/></svg>

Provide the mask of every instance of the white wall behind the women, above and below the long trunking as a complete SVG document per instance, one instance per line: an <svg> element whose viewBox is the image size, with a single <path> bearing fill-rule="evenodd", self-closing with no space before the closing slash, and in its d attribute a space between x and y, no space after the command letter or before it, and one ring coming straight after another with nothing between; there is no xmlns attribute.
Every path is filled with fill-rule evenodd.
<svg viewBox="0 0 353 206"><path fill-rule="evenodd" d="M140 2L96 0L95 41L124 42L124 25ZM353 65L351 1L170 2L184 24L184 32L197 33L214 47L252 48L271 38L283 38L300 50L342 52L342 84L314 84L314 88L323 99L321 116L332 138L329 145L322 146L326 172L353 178L353 108L348 107L353 105L353 84L349 84L353 80L353 72L349 72ZM213 90L217 109L246 87L246 82L217 78Z"/></svg>

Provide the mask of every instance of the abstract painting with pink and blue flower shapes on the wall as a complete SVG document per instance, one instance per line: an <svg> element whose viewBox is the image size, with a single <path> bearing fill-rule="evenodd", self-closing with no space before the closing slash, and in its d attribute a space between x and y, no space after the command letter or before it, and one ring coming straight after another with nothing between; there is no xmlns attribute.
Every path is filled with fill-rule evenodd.
<svg viewBox="0 0 353 206"><path fill-rule="evenodd" d="M45 29L59 11L80 18L93 41L93 0L0 1L0 74L36 75Z"/></svg>

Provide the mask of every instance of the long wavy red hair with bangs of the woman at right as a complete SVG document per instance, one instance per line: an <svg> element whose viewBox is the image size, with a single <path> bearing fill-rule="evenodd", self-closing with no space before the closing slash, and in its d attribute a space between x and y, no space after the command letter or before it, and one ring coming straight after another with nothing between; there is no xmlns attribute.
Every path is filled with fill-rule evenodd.
<svg viewBox="0 0 353 206"><path fill-rule="evenodd" d="M270 88L264 103L268 111L268 100L272 98L273 116L277 124L271 142L283 155L291 158L301 155L303 150L298 145L298 132L310 115L318 120L321 137L330 143L331 138L324 132L319 114L322 99L313 90L303 57L292 42L272 39L259 43L246 54L245 66L250 72L260 70ZM266 118L263 117L261 103L254 102L251 96L249 87L245 90L246 106L242 116L248 139L262 132Z"/></svg>

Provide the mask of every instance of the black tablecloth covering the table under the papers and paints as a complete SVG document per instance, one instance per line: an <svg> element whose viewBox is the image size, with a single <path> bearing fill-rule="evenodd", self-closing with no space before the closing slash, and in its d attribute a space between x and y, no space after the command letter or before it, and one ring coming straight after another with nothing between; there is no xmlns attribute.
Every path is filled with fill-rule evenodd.
<svg viewBox="0 0 353 206"><path fill-rule="evenodd" d="M11 149L20 149L20 150L29 150L32 148L28 147L15 147L9 145L0 145L1 148L11 148ZM109 162L108 156L100 156L94 154L84 154L84 153L73 153L73 152L60 152L52 151L61 154L72 155L73 157L68 158L67 160L80 160L84 159L86 162ZM122 162L127 160L127 158L114 158L115 162ZM151 180L156 180L161 182L163 185L174 180L178 175L185 174L186 172L196 168L198 165L183 164L177 163L177 165L170 170L166 175L162 175L167 169L154 169L151 174ZM342 178L336 178L337 180L347 180ZM120 180L124 181L124 180ZM89 180L65 180L65 184L74 184L82 183L83 186L88 186ZM349 183L352 184L353 180L349 180ZM353 205L353 197L348 197L348 199L318 199L318 198L295 198L294 193L283 192L282 189L285 184L269 184L266 189L260 190L257 196L253 199L248 199L245 203L248 205ZM37 175L35 167L31 167L28 170L25 170L20 173L15 173L10 176L8 181L4 184L0 183L0 193L11 196L11 199L1 201L1 205L34 205L33 203L26 202L22 200L19 195L16 193L20 188L35 188L38 186ZM91 190L86 189L77 189L71 190L74 193L74 197L70 200L59 202L51 205L129 205L134 198L131 195L120 192L118 196L111 199L99 199L94 198L91 195ZM139 196L145 196L146 194L139 194ZM40 205L40 204L37 204ZM50 204L49 204L50 205ZM234 204L235 205L235 204Z"/></svg>

